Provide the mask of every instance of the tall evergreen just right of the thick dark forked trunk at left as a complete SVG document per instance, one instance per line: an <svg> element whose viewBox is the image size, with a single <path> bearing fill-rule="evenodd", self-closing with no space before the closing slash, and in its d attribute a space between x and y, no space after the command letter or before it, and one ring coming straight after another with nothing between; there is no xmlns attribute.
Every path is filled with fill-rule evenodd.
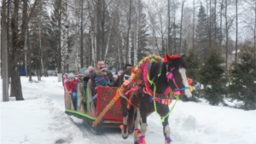
<svg viewBox="0 0 256 144"><path fill-rule="evenodd" d="M31 53L36 60L38 61L38 65L32 66L35 70L38 70L38 80L41 80L42 75L47 75L47 63L49 59L49 55L46 53L47 49L49 49L49 15L46 8L46 3L44 1L38 2L38 6L34 9L32 14L32 18L30 21L30 33L32 33L32 37L30 37L30 47L32 49L27 50L27 53ZM26 53L26 54L27 54ZM29 64L31 61L28 62ZM29 70L32 71L31 69Z"/></svg>

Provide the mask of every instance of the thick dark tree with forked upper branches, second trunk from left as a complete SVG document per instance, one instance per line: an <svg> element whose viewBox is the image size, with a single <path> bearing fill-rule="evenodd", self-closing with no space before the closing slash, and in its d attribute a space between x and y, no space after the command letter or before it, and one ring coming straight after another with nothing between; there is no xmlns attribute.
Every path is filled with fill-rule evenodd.
<svg viewBox="0 0 256 144"><path fill-rule="evenodd" d="M18 12L20 10L19 0L15 0L15 12L11 17L11 29L12 29L12 39L13 39L13 49L11 53L11 91L14 92L17 101L24 100L20 84L20 73L19 66L17 63L18 54L20 50L23 49L25 45L26 30L28 27L28 22L31 19L33 10L36 8L38 0L35 0L32 4L32 8L28 12L28 0L23 0L23 9L21 17L21 25L19 25Z"/></svg>

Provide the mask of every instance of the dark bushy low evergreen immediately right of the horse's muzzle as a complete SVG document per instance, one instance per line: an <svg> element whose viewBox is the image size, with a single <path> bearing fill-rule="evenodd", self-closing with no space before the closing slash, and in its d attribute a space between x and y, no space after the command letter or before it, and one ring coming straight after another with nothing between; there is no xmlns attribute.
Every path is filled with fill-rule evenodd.
<svg viewBox="0 0 256 144"><path fill-rule="evenodd" d="M218 49L210 49L210 54L199 71L199 82L203 84L203 97L210 105L216 106L223 102L226 93L227 78L224 74L224 59L218 54Z"/></svg>

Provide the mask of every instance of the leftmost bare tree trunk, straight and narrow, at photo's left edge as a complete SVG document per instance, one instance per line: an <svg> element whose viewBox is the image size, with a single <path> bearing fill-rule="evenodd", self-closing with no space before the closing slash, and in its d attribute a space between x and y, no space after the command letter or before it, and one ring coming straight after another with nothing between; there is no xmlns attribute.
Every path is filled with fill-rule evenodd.
<svg viewBox="0 0 256 144"><path fill-rule="evenodd" d="M1 50L3 53L1 53L2 57L2 77L3 77L3 101L9 101L9 73L8 73L8 44L7 44L7 10L6 1L3 0L2 2L2 19L1 19Z"/></svg>

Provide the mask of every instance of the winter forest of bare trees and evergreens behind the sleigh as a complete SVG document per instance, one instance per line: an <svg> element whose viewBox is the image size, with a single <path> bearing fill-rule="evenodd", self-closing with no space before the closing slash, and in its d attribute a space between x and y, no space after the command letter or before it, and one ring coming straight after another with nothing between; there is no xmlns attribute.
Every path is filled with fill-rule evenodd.
<svg viewBox="0 0 256 144"><path fill-rule="evenodd" d="M185 54L192 101L256 109L256 0L3 0L1 8L3 101L24 100L20 68L30 81L49 70L61 81L97 60L120 70L146 55Z"/></svg>

